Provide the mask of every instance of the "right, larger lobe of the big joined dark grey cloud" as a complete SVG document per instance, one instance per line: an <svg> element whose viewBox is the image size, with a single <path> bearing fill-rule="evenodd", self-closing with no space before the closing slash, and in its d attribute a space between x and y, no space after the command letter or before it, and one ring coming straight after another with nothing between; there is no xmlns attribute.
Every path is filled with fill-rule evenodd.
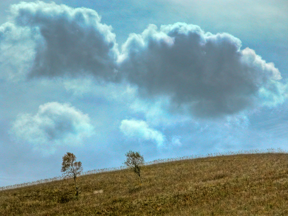
<svg viewBox="0 0 288 216"><path fill-rule="evenodd" d="M173 109L196 116L234 114L281 103L285 86L273 63L228 33L205 33L175 23L131 34L118 59L128 82L144 96L170 96Z"/></svg>

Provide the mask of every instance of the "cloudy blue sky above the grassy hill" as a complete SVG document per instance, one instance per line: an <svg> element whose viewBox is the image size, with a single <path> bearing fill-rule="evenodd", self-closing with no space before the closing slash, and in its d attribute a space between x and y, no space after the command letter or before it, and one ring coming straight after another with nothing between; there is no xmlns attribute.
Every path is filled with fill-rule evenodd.
<svg viewBox="0 0 288 216"><path fill-rule="evenodd" d="M288 150L288 2L0 1L0 186ZM224 10L225 9L225 10Z"/></svg>

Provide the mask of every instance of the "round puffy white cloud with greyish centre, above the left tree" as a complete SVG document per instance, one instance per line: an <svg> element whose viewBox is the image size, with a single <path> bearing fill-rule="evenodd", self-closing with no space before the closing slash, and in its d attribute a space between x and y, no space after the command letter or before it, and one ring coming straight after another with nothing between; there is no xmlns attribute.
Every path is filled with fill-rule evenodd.
<svg viewBox="0 0 288 216"><path fill-rule="evenodd" d="M67 103L50 102L39 106L38 112L20 114L10 131L18 141L26 141L43 153L53 153L57 146L81 145L94 127L88 115Z"/></svg>

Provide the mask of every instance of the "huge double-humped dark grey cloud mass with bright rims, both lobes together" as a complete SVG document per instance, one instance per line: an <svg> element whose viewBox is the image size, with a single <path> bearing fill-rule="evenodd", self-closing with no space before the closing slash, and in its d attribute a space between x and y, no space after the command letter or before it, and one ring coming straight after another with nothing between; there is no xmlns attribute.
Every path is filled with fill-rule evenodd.
<svg viewBox="0 0 288 216"><path fill-rule="evenodd" d="M11 79L21 71L28 78L89 73L109 82L125 80L141 96L168 96L171 111L201 118L274 106L287 96L274 64L250 48L241 50L240 39L228 33L205 33L186 23L158 30L151 24L142 34L130 34L119 52L111 26L92 9L22 2L11 13L0 27L0 61L25 46L30 50L5 63ZM9 46L19 49L7 52Z"/></svg>

